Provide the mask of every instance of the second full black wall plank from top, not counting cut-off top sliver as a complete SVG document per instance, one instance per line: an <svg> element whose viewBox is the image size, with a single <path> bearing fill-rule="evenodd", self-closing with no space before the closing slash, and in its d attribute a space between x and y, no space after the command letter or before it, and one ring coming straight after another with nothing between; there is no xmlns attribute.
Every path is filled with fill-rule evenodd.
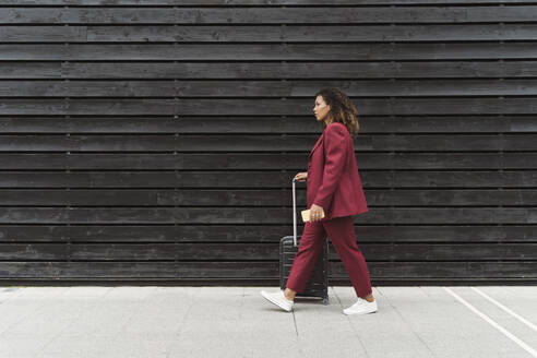
<svg viewBox="0 0 537 358"><path fill-rule="evenodd" d="M536 24L241 26L0 26L0 43L533 40ZM344 35L343 35L344 34ZM344 36L344 37L342 37Z"/></svg>

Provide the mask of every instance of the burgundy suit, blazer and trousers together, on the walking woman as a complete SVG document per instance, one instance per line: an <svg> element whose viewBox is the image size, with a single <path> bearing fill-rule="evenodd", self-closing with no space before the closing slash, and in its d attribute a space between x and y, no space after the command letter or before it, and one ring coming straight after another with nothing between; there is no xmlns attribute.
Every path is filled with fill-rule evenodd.
<svg viewBox="0 0 537 358"><path fill-rule="evenodd" d="M317 204L325 217L308 222L286 287L302 293L326 235L342 259L358 297L371 293L366 260L356 244L351 215L368 212L356 166L353 139L339 122L330 123L308 157L308 208Z"/></svg>

